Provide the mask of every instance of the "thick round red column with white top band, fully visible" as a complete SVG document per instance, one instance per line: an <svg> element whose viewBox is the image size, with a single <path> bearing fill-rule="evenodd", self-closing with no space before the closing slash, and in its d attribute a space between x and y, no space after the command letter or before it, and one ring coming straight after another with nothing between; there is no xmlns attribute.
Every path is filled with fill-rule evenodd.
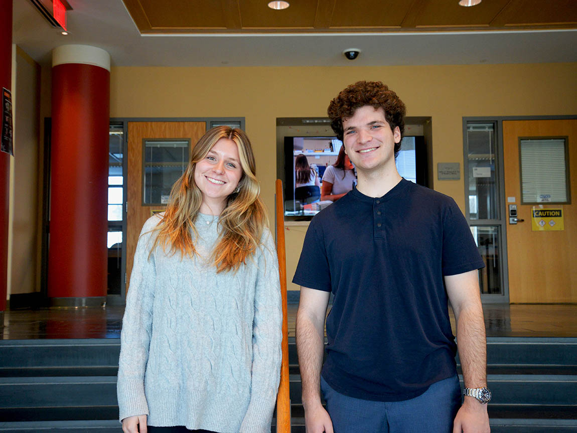
<svg viewBox="0 0 577 433"><path fill-rule="evenodd" d="M53 305L106 296L109 69L110 56L100 48L54 49L48 297L59 299Z"/></svg>

